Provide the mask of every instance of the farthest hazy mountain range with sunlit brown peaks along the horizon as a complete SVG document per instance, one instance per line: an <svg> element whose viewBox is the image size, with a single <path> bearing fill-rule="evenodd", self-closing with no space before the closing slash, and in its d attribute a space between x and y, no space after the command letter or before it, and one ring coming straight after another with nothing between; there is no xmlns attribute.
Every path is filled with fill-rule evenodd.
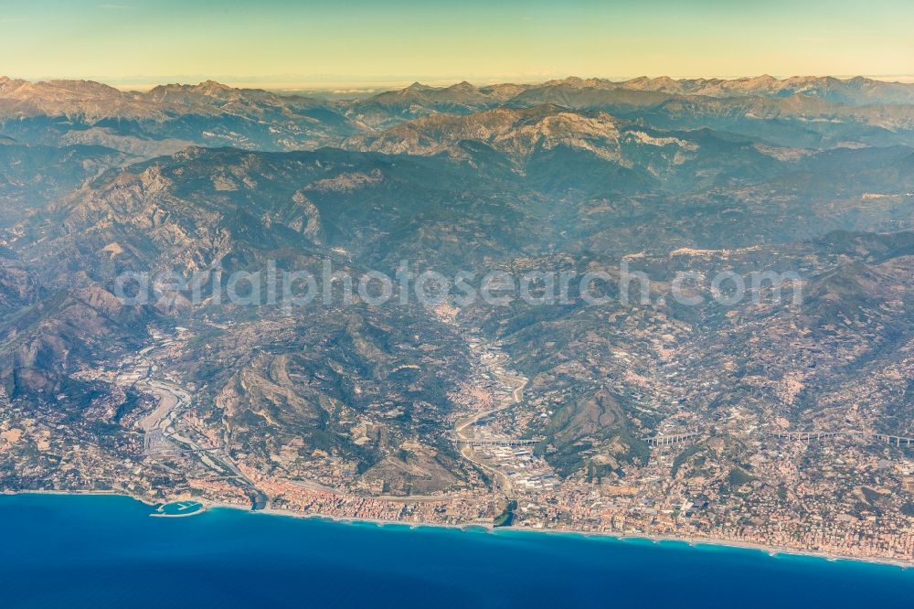
<svg viewBox="0 0 914 609"><path fill-rule="evenodd" d="M807 125L813 131L814 123L830 121L847 128L909 132L914 84L812 77L622 82L569 78L541 85L482 88L467 82L438 88L415 83L364 100L325 102L236 90L214 81L130 92L90 81L32 83L0 77L4 134L20 134L20 140L46 144L103 144L106 138L112 144L117 139L120 144L114 147L119 149L131 142L149 144L149 140L175 146L192 142L270 150L314 148L338 144L367 128L389 127L435 113L468 114L497 106L522 108L542 103L602 110L621 118L637 113L667 127L708 121L751 129L742 123L781 119L813 123Z"/></svg>

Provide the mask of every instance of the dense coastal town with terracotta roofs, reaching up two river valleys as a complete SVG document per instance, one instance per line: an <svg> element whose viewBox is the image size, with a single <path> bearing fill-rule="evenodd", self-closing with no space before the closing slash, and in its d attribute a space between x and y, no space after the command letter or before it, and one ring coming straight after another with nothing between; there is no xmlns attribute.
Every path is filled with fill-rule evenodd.
<svg viewBox="0 0 914 609"><path fill-rule="evenodd" d="M694 416L681 413L646 439L646 463L626 467L622 476L563 479L537 449L544 438L517 433L547 406L528 398L528 379L510 368L497 344L471 333L477 364L452 395L459 410L450 442L490 482L389 495L380 483L347 488L352 472L333 461L309 478L283 477L246 461L225 430L207 426L193 408L197 388L169 366L192 333L178 328L151 337L154 345L112 368L79 373L125 394L135 391L145 404L144 414L131 415L134 439L123 447L129 456L112 462L90 446L68 450L72 429L16 417L8 401L4 411L13 416L0 422L0 454L30 445L54 459L58 473L48 490L122 492L153 503L192 499L292 516L509 526L914 561L914 516L895 505L914 493L907 440L772 433L751 419L747 424L738 410L726 425L702 430ZM109 416L116 407L93 406L100 413L108 408ZM735 445L745 465L729 465L726 455Z"/></svg>

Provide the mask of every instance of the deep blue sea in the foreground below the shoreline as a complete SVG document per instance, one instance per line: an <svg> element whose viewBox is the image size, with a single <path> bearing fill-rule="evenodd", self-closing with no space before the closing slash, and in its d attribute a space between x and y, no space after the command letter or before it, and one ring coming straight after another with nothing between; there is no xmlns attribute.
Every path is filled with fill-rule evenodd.
<svg viewBox="0 0 914 609"><path fill-rule="evenodd" d="M914 570L759 550L0 497L0 607L914 606Z"/></svg>

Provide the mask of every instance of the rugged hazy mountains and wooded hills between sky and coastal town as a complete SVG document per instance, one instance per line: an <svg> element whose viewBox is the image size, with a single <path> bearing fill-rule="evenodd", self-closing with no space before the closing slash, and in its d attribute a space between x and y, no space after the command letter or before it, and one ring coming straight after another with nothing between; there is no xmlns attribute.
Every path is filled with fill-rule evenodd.
<svg viewBox="0 0 914 609"><path fill-rule="evenodd" d="M0 445L16 464L0 470L4 486L90 485L90 468L62 456L80 443L130 465L102 467L114 477L145 463L148 398L86 371L152 345L147 328L189 333L168 373L196 388L200 433L230 436L245 472L354 492L492 488L451 429L465 407L455 396L482 374L480 343L529 379L500 429L537 439L563 481L634 484L644 439L675 425L719 440L746 422L749 440L703 443L673 472L715 489L751 470L751 434L914 435L914 84L569 78L325 101L213 81L125 92L0 79L0 220L12 404L0 423L28 412L33 438ZM676 272L796 272L803 297L590 307L572 293L543 307L288 315L213 294L199 306L186 292L146 305L113 295L124 272L273 261L319 273L327 260L354 274L404 260L416 272L600 271L613 296L622 261L656 295ZM46 431L52 449L37 450ZM148 496L197 477L141 470L124 479ZM787 501L776 484L739 492ZM906 503L870 498L860 514Z"/></svg>

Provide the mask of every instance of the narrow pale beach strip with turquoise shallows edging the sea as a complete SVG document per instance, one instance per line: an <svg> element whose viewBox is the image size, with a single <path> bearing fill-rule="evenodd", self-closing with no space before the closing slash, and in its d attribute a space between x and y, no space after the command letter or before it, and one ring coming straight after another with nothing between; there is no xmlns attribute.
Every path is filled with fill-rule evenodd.
<svg viewBox="0 0 914 609"><path fill-rule="evenodd" d="M52 496L99 496L99 497L127 497L142 503L144 506L154 508L155 506L162 505L160 502L150 501L147 498L135 497L129 493L123 493L113 490L23 490L23 491L10 491L3 490L0 491L0 496L16 496L16 495L52 495ZM760 543L753 543L749 541L739 541L739 540L718 540L715 538L679 538L670 535L651 535L650 533L609 533L604 531L585 531L585 530L576 530L576 529L533 529L529 527L493 527L492 525L484 523L466 523L466 524L443 524L443 523L434 523L434 522L406 522L403 520L383 520L377 518L360 518L360 517L347 517L347 516L334 516L329 514L320 514L320 513L303 513L295 512L292 510L277 509L277 508L266 508L260 510L252 510L245 506L239 506L238 504L231 503L219 503L219 502L208 502L201 499L194 499L195 501L200 501L203 504L203 508L194 512L193 514L187 514L180 518L190 518L192 516L197 516L198 514L203 514L211 509L232 509L241 512L248 512L250 514L265 514L267 516L280 517L280 518L313 518L318 520L327 520L337 524L372 524L377 527L386 527L386 526L397 526L407 529L422 529L422 528L435 528L435 529L456 529L462 530L465 532L472 532L473 529L483 529L489 533L497 533L498 531L505 531L510 533L522 533L522 534L537 534L537 533L547 533L550 535L566 535L566 536L575 536L581 537L584 539L593 538L593 539L603 539L603 540L615 540L615 541L650 541L654 544L660 544L663 542L668 543L681 543L692 548L698 546L711 546L717 548L730 548L737 550L756 550L768 554L771 558L776 558L778 556L792 556L799 558L814 558L820 559L829 562L836 561L845 561L845 562L860 562L864 564L873 564L873 565L883 565L897 567L899 569L908 571L914 570L914 560L912 561L903 561L898 559L888 559L888 558L879 558L879 557L867 557L867 556L848 556L844 554L835 554L832 552L823 552L815 550L799 550L796 548L790 547L778 547L778 546L768 546Z"/></svg>

